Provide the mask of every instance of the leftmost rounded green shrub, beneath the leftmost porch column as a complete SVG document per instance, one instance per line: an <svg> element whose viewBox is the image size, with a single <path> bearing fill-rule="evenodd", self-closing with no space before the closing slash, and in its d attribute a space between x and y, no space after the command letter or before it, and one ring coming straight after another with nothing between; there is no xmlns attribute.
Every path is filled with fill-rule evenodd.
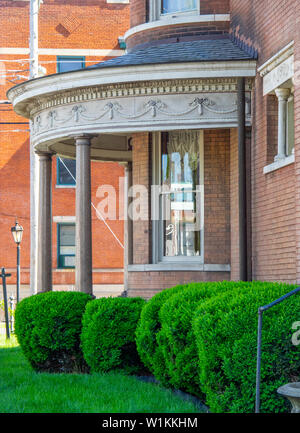
<svg viewBox="0 0 300 433"><path fill-rule="evenodd" d="M17 305L15 332L35 370L72 372L87 368L80 333L82 315L91 299L85 293L46 292Z"/></svg>

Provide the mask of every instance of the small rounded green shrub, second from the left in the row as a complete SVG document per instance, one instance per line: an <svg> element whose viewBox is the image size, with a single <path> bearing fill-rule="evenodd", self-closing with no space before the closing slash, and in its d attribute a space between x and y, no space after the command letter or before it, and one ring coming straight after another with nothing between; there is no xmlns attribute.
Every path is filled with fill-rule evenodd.
<svg viewBox="0 0 300 433"><path fill-rule="evenodd" d="M135 331L145 305L142 298L102 298L87 305L82 321L84 358L93 372L142 369Z"/></svg>

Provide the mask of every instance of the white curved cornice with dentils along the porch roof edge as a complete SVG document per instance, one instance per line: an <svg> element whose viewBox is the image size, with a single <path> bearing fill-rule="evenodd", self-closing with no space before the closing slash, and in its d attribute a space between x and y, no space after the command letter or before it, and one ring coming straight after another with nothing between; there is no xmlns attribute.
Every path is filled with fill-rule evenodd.
<svg viewBox="0 0 300 433"><path fill-rule="evenodd" d="M166 63L157 64L155 68L153 65L94 68L30 80L11 88L7 97L13 103L17 114L30 117L31 112L36 112L50 101L53 101L53 105L61 105L106 97L161 94L170 91L205 92L219 91L218 88L220 91L236 91L237 77L248 77L247 85L250 90L251 77L254 78L255 75L256 61L252 60ZM232 84L234 88L230 88ZM194 90L192 87L195 85ZM170 86L175 86L174 90L170 89ZM191 89L188 90L187 86L191 86Z"/></svg>

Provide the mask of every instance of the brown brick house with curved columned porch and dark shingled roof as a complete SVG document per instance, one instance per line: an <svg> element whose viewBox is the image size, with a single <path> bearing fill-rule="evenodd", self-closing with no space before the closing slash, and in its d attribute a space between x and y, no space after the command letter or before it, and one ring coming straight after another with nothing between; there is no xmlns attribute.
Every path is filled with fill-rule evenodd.
<svg viewBox="0 0 300 433"><path fill-rule="evenodd" d="M44 179L50 153L76 157L88 202L90 158L126 165L126 186L138 185L124 233L130 296L191 281L299 281L297 2L130 6L124 56L8 93L33 121ZM76 217L76 287L91 291L90 214ZM41 234L42 245L50 254Z"/></svg>

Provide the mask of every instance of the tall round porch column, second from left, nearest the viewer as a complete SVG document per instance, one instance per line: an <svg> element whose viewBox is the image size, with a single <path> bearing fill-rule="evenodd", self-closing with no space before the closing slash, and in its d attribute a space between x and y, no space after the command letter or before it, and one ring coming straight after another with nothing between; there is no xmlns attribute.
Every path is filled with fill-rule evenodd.
<svg viewBox="0 0 300 433"><path fill-rule="evenodd" d="M76 265L79 292L93 293L91 215L91 136L74 137L76 144Z"/></svg>

